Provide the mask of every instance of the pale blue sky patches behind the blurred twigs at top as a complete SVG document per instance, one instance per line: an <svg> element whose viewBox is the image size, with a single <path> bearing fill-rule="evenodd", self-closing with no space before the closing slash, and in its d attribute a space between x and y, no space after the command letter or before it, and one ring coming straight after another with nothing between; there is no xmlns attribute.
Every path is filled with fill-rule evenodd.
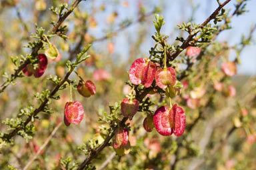
<svg viewBox="0 0 256 170"><path fill-rule="evenodd" d="M123 1L123 0L121 0ZM107 17L110 13L113 11L117 11L119 13L117 17L117 23L120 23L123 19L131 19L135 20L137 19L137 6L138 2L141 1L143 4L146 5L147 11L152 11L155 5L160 6L163 8L163 12L161 15L165 18L165 25L163 26L163 29L161 30L166 35L169 35L169 40L171 42L175 41L175 29L177 29L177 24L181 23L181 21L189 21L189 17L191 17L191 0L126 0L129 3L129 7L122 7L117 3L117 0L87 0L81 2L79 5L79 8L82 10L87 11L88 13L91 13L92 5L99 6L105 3L107 5L107 8L105 11L98 13L95 18L98 22L99 27L97 29L91 29L89 30L89 33L95 35L95 37L102 37L105 35L106 28L109 27L107 25ZM221 0L223 2L224 0ZM69 0L69 3L72 1ZM231 0L225 8L231 9L231 12L234 11L236 0ZM217 1L216 0L194 0L193 5L198 6L197 11L195 11L195 23L203 23L215 9L217 9ZM235 43L238 43L241 39L241 35L245 34L247 35L249 33L250 27L253 25L253 23L256 23L256 0L247 1L247 10L249 12L245 13L244 15L241 15L239 17L233 17L231 21L232 29L223 31L221 35L217 38L219 41L227 41L229 45L234 45ZM24 9L25 10L25 9ZM182 12L181 12L182 11ZM27 11L22 11L23 16L25 16ZM149 34L149 37L147 38L147 41L143 43L141 47L142 54L139 55L148 55L148 51L151 47L154 45L154 41L151 39L151 35L155 33L155 29L153 27L153 21L154 16L148 17L148 22L151 24L152 27L146 28L147 32ZM33 23L31 23L33 24ZM128 29L125 29L125 31L122 31L115 37L114 39L111 39L116 45L115 47L115 54L119 55L113 55L114 59L122 60L125 62L125 59L127 59L129 55L129 43L133 42L133 33L137 31L137 28L139 28L139 24L132 25ZM118 27L118 26L117 26ZM117 28L115 27L115 28ZM145 25L145 27L148 27L148 25ZM115 30L115 29L113 29ZM109 31L109 30L108 30ZM177 31L176 31L177 33ZM256 75L256 34L253 35L254 43L250 45L249 47L245 47L243 52L241 53L241 65L238 66L238 74L245 74L245 75ZM129 41L128 41L129 40ZM95 47L99 47L99 50L105 51L108 41L105 42L99 42L95 43ZM103 45L105 43L105 46ZM121 59L120 59L121 54ZM232 54L231 54L232 55ZM141 56L138 56L141 57ZM233 56L230 56L231 58Z"/></svg>

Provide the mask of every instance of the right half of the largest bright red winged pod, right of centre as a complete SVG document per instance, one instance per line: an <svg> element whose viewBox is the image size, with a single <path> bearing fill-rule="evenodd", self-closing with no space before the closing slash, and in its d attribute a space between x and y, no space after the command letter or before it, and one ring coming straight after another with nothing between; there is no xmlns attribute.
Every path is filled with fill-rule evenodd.
<svg viewBox="0 0 256 170"><path fill-rule="evenodd" d="M182 135L185 129L186 115L181 107L176 104L173 105L173 108L169 111L169 121L174 135Z"/></svg>

